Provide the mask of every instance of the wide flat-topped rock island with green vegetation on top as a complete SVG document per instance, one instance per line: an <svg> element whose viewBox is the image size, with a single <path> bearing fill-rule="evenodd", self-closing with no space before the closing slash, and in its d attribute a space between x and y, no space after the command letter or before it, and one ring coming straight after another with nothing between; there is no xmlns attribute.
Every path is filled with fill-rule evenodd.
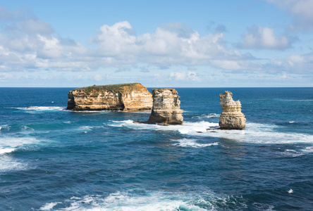
<svg viewBox="0 0 313 211"><path fill-rule="evenodd" d="M152 108L152 94L142 84L113 84L73 89L68 110L137 111Z"/></svg>

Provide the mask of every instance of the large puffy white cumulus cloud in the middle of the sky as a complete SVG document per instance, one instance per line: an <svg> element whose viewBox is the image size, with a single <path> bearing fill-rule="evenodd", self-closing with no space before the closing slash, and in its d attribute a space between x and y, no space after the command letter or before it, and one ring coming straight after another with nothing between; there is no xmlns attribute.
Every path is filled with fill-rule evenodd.
<svg viewBox="0 0 313 211"><path fill-rule="evenodd" d="M222 33L200 37L180 23L158 27L154 33L136 36L130 23L103 25L92 37L101 65L149 63L152 65L208 65L212 58L243 59L239 51L228 49ZM99 63L99 62L98 62Z"/></svg>

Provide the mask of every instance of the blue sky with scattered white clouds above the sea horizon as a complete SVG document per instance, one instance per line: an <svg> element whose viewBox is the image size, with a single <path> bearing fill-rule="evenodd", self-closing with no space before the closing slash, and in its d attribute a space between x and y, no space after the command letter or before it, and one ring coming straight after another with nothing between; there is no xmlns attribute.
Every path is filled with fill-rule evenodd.
<svg viewBox="0 0 313 211"><path fill-rule="evenodd" d="M0 1L0 87L313 87L313 0Z"/></svg>

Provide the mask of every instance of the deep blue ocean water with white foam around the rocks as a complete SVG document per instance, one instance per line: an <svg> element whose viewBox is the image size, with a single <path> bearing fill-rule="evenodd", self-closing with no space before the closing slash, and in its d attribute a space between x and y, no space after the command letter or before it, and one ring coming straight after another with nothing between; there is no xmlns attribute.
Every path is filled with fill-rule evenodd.
<svg viewBox="0 0 313 211"><path fill-rule="evenodd" d="M313 88L178 88L168 127L69 90L0 88L0 210L313 210ZM244 130L214 130L226 90Z"/></svg>

